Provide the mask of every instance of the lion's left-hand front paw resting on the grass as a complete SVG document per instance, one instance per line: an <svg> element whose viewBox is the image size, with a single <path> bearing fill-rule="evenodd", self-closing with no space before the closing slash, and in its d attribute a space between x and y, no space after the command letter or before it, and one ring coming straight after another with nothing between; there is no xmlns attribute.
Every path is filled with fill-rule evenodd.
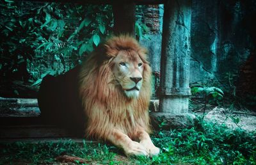
<svg viewBox="0 0 256 165"><path fill-rule="evenodd" d="M148 156L147 149L136 141L132 141L132 143L130 143L129 146L127 146L127 148L124 148L124 153L127 156Z"/></svg>

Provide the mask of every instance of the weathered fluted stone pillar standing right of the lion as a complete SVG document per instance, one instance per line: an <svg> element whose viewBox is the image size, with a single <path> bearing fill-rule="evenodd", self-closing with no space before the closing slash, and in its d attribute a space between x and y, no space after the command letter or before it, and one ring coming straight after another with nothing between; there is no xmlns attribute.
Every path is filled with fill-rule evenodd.
<svg viewBox="0 0 256 165"><path fill-rule="evenodd" d="M170 127L188 125L191 1L164 4L159 112ZM189 118L188 118L189 116Z"/></svg>

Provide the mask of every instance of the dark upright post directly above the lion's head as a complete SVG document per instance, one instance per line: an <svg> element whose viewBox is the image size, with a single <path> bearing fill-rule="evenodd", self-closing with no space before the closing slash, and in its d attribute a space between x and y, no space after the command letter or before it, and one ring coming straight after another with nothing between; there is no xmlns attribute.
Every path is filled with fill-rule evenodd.
<svg viewBox="0 0 256 165"><path fill-rule="evenodd" d="M129 34L135 36L135 4L113 4L114 33L115 35Z"/></svg>

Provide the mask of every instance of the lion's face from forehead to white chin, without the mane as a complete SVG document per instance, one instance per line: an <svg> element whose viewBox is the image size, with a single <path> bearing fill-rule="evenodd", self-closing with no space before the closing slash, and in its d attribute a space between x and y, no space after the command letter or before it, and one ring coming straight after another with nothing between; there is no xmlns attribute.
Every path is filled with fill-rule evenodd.
<svg viewBox="0 0 256 165"><path fill-rule="evenodd" d="M115 81L129 98L138 98L143 83L143 61L135 51L120 51L113 60Z"/></svg>

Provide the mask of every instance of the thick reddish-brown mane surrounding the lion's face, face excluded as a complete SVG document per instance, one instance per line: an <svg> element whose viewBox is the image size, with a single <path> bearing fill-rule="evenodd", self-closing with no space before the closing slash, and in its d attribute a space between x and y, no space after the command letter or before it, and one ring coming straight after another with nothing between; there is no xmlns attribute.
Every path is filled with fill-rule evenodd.
<svg viewBox="0 0 256 165"><path fill-rule="evenodd" d="M143 84L137 99L125 97L113 76L113 59L122 50L137 52L143 61ZM150 132L150 79L146 49L130 36L109 38L92 52L79 72L79 94L88 116L86 136L106 139L114 127L128 136L138 127Z"/></svg>

